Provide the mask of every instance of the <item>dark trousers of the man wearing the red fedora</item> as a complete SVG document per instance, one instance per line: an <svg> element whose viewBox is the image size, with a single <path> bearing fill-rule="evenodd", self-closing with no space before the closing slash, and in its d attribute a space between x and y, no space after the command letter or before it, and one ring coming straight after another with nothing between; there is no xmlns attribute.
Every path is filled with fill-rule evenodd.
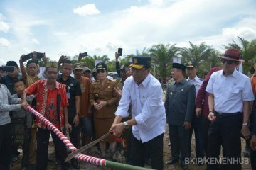
<svg viewBox="0 0 256 170"><path fill-rule="evenodd" d="M208 159L218 159L220 147L223 147L223 158L238 160L226 162L221 169L241 169L241 140L242 114L217 115L216 120L210 124L208 133ZM207 162L207 169L220 169L218 162Z"/></svg>

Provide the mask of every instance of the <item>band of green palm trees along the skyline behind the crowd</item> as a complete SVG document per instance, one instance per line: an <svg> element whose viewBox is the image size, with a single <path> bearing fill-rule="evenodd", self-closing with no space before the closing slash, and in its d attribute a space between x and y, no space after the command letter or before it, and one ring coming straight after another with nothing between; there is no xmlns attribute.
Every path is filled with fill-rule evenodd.
<svg viewBox="0 0 256 170"><path fill-rule="evenodd" d="M252 74L254 72L252 63L256 60L256 39L247 41L244 38L238 37L238 40L239 43L233 40L232 43L223 46L225 49L235 48L240 50L242 59L245 60L242 63L243 73L247 75ZM122 66L136 55L150 56L152 57L151 73L155 77L161 77L162 79L170 77L173 57L181 57L183 64L186 64L188 61L196 62L198 65L198 76L202 78L209 72L210 68L221 67L220 57L218 57L220 52L206 45L205 42L202 42L200 45L194 45L192 42L189 42L189 45L190 47L188 48L179 48L176 47L176 44L164 45L160 43L158 45L152 45L150 48L144 47L142 52L136 50L135 54L119 57L120 64ZM78 58L78 56L75 57ZM107 55L87 56L82 58L81 62L90 69L93 69L95 67L95 60L102 60L107 63L110 72L115 71L115 61L110 61ZM76 62L76 60L73 62Z"/></svg>

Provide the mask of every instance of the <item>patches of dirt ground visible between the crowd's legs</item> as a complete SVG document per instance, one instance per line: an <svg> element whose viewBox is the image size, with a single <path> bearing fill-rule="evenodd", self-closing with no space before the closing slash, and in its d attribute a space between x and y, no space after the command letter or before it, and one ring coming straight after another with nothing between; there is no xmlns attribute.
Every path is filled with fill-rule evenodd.
<svg viewBox="0 0 256 170"><path fill-rule="evenodd" d="M166 125L166 132L164 134L164 162L167 162L169 160L170 156L171 156L171 148L168 146L169 133L168 133L167 130L168 130L168 128L167 128L167 125ZM192 146L191 147L192 148L191 157L195 157L195 140L192 140L191 146ZM244 146L245 146L245 140L242 140L242 150L243 150ZM21 149L20 149L20 152L22 152ZM87 155L90 155L90 156L93 156L93 157L98 157L100 155L97 147L92 147L90 152L91 152L91 154L87 154ZM11 164L11 170L21 169L21 166L20 166L21 165L21 157L22 157L21 155L18 157L18 162L14 163L14 164ZM243 157L243 155L242 155L242 157ZM49 159L50 159L50 161L48 162L48 170L60 169L55 164L54 147L53 147L52 143L49 146ZM124 163L125 160L124 160L123 157L119 157L117 159L117 162ZM80 162L80 166L81 166L80 169L105 169L103 167L95 166L94 164L90 164L90 163L86 163L86 162ZM146 167L150 168L150 166L146 166ZM181 166L178 163L176 163L174 165L164 164L164 169L166 169L166 170L169 170L169 169L178 170L178 169L181 169ZM203 169L206 169L206 165L198 166L196 164L190 164L189 169L193 169L193 170L201 170L202 169L203 170ZM250 164L242 164L242 169L245 169L245 170L251 169Z"/></svg>

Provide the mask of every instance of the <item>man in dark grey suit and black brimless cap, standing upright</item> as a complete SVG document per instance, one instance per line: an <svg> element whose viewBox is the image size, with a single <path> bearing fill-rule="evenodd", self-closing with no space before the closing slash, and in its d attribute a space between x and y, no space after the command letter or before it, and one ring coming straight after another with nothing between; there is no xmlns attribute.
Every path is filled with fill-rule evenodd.
<svg viewBox="0 0 256 170"><path fill-rule="evenodd" d="M168 86L164 104L171 142L171 159L166 164L181 159L182 169L188 169L185 158L189 154L189 129L196 98L195 86L184 79L185 70L183 64L173 64L171 75L174 81Z"/></svg>

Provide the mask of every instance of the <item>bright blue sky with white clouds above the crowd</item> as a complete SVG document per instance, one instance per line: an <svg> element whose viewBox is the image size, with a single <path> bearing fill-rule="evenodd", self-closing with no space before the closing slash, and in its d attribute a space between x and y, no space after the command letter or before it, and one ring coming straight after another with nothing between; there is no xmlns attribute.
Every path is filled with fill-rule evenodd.
<svg viewBox="0 0 256 170"><path fill-rule="evenodd" d="M33 51L114 59L159 43L224 52L238 36L256 38L255 0L1 0L0 65Z"/></svg>

